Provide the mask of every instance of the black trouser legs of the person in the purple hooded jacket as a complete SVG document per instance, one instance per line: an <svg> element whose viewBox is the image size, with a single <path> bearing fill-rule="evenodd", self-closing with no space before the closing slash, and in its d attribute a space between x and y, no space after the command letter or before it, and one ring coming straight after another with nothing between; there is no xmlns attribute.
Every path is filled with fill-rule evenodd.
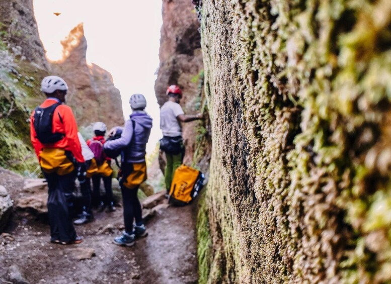
<svg viewBox="0 0 391 284"><path fill-rule="evenodd" d="M135 219L136 223L142 222L141 204L137 197L137 191L138 186L132 190L121 186L125 232L128 234L131 234L133 231L133 219Z"/></svg>

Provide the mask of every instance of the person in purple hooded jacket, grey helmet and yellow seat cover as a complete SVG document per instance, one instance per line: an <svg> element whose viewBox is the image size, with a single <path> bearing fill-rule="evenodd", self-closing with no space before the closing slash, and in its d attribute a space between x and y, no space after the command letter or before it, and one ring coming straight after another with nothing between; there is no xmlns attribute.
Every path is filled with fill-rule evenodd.
<svg viewBox="0 0 391 284"><path fill-rule="evenodd" d="M114 239L121 246L134 245L135 238L147 235L141 218L141 204L137 197L140 184L146 180L145 145L148 142L152 119L144 111L145 97L140 93L132 94L129 100L132 114L126 121L121 138L106 141L105 149L122 149L120 186L123 201L125 231ZM133 219L136 225L133 228Z"/></svg>

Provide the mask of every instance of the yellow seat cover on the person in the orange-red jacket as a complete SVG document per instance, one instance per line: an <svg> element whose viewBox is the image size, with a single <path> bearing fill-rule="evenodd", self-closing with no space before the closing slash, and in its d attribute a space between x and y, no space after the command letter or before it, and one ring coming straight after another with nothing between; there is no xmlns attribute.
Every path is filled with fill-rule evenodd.
<svg viewBox="0 0 391 284"><path fill-rule="evenodd" d="M39 157L39 164L46 173L65 175L74 170L74 165L65 155L64 149L44 148Z"/></svg>

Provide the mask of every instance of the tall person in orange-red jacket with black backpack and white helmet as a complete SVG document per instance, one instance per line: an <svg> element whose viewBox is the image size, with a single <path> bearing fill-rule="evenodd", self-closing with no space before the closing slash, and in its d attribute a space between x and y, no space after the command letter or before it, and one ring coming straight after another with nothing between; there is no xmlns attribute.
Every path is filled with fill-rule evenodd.
<svg viewBox="0 0 391 284"><path fill-rule="evenodd" d="M58 76L47 76L41 91L47 99L31 115L30 138L49 187L47 208L50 241L79 244L69 216L74 173L83 181L86 163L77 137L77 125L70 107L63 105L68 86Z"/></svg>

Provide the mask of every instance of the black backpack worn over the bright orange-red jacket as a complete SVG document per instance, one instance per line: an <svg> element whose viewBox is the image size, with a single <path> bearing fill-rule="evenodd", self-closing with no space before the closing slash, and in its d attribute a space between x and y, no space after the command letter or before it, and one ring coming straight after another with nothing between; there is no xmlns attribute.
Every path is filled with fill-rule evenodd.
<svg viewBox="0 0 391 284"><path fill-rule="evenodd" d="M34 112L34 129L37 133L37 138L42 144L53 144L64 138L63 133L53 133L53 115L55 109L60 106L61 103L55 103L47 108L41 108L40 106L35 108ZM60 121L62 118L58 114Z"/></svg>

